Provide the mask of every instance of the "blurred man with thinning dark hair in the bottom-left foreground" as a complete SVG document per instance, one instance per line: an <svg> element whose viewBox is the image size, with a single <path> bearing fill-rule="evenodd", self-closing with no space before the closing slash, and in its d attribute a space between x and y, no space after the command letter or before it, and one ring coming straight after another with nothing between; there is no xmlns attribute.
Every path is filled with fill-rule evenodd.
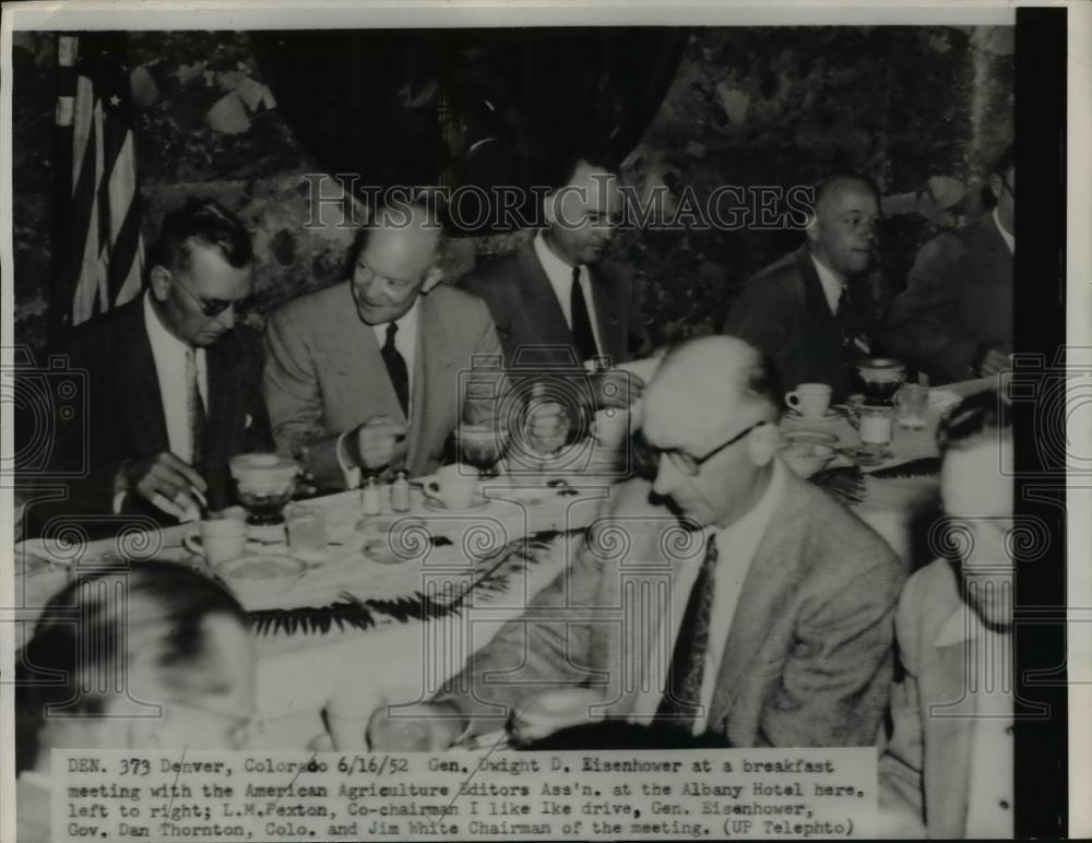
<svg viewBox="0 0 1092 843"><path fill-rule="evenodd" d="M246 749L256 664L242 607L188 567L73 580L16 657L16 843L63 836L50 833L52 749Z"/></svg>

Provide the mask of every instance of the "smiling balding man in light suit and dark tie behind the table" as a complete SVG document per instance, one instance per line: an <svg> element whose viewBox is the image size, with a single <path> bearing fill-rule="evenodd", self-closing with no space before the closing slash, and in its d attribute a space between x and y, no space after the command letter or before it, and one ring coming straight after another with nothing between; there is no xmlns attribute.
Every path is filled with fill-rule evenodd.
<svg viewBox="0 0 1092 843"><path fill-rule="evenodd" d="M500 342L485 302L438 286L441 234L425 207L380 207L354 244L349 278L270 319L273 435L321 488L428 474L461 419L495 413ZM489 359L497 369L471 372Z"/></svg>

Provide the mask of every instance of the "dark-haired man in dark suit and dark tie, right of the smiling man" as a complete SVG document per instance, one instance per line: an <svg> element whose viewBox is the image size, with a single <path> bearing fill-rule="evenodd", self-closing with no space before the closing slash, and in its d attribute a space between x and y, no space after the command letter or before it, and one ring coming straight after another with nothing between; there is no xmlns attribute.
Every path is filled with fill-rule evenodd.
<svg viewBox="0 0 1092 843"><path fill-rule="evenodd" d="M602 158L575 153L548 174L546 227L468 273L460 286L485 299L513 373L602 358L609 368L649 351L629 272L604 260L622 213L618 176ZM628 406L636 376L603 371L592 381L597 406Z"/></svg>

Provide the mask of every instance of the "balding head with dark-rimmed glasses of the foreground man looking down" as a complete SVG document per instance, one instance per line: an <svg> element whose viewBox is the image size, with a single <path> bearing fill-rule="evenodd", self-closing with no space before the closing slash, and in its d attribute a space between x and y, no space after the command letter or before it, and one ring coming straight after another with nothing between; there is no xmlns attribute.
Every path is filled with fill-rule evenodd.
<svg viewBox="0 0 1092 843"><path fill-rule="evenodd" d="M726 525L745 514L769 483L778 441L775 390L762 355L741 340L707 336L668 352L643 402L642 434L665 452L654 491L700 524ZM686 458L670 452L699 461L713 455L690 476L681 470Z"/></svg>

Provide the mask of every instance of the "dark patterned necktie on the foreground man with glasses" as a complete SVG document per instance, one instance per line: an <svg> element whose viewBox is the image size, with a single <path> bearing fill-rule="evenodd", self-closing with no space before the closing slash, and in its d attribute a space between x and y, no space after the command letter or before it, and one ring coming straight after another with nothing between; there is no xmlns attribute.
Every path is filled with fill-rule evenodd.
<svg viewBox="0 0 1092 843"><path fill-rule="evenodd" d="M716 543L705 542L705 559L701 563L687 599L682 624L675 639L675 652L667 668L664 697L656 708L656 723L664 726L691 728L701 704L701 680L705 674L705 651L709 649L709 619L713 608L713 575L716 571Z"/></svg>

